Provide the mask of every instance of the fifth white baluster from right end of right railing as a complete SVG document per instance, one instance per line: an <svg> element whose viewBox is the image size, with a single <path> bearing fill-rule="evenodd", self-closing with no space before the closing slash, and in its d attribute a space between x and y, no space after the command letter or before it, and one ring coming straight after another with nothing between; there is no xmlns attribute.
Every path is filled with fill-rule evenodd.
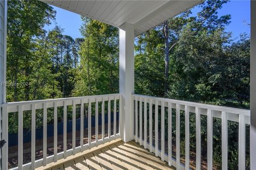
<svg viewBox="0 0 256 170"><path fill-rule="evenodd" d="M189 112L185 105L185 169L189 170Z"/></svg>

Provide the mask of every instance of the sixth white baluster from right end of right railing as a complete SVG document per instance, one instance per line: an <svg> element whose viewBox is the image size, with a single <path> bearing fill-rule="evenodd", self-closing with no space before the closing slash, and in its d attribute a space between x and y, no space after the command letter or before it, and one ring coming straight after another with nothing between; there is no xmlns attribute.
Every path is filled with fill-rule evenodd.
<svg viewBox="0 0 256 170"><path fill-rule="evenodd" d="M180 169L180 105L176 104L176 169Z"/></svg>

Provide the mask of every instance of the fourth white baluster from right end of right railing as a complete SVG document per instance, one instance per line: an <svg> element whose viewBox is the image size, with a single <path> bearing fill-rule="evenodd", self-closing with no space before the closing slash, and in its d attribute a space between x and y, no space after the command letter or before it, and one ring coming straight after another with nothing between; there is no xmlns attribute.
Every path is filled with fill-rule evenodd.
<svg viewBox="0 0 256 170"><path fill-rule="evenodd" d="M196 107L196 169L201 169L201 118L199 108Z"/></svg>

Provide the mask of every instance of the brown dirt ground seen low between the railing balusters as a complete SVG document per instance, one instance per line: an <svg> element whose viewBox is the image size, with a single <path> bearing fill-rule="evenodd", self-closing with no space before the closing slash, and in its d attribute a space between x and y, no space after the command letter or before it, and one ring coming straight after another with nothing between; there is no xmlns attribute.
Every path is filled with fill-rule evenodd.
<svg viewBox="0 0 256 170"><path fill-rule="evenodd" d="M117 122L117 133L118 133L118 122ZM98 138L102 139L101 133L101 125L99 125L99 135ZM92 141L95 141L95 128L92 128ZM114 124L111 123L111 135L114 134ZM139 134L139 133L138 133ZM155 146L155 132L153 131L153 146ZM108 136L108 124L105 124L105 137ZM72 143L72 132L67 133L67 149L71 149L73 146ZM147 135L147 141L149 142L149 133ZM158 134L158 143L159 149L161 149L161 132ZM58 144L57 151L63 151L63 135L58 135ZM144 139L144 135L142 134L142 139ZM53 155L53 140L54 137L47 138L47 156ZM84 144L88 143L88 129L84 129ZM36 160L43 158L43 139L36 140ZM76 147L80 146L80 131L76 131ZM168 142L165 141L165 153L168 152ZM175 159L176 148L175 148L175 140L172 140L172 157ZM9 168L18 166L18 145L9 147ZM31 161L31 143L23 143L23 164L27 164ZM181 157L181 163L185 164L185 157ZM195 169L196 167L196 153L190 151L190 169ZM202 157L201 160L201 169L207 169L207 158ZM213 168L215 169L215 168Z"/></svg>

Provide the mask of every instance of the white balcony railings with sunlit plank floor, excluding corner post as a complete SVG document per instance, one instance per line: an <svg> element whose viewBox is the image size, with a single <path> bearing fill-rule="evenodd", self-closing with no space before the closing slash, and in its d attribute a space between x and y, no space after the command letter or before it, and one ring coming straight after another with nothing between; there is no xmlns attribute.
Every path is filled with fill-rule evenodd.
<svg viewBox="0 0 256 170"><path fill-rule="evenodd" d="M8 154L10 147L9 150L7 147L3 150L5 156L3 163L9 164L12 169L53 167L69 169L82 165L95 167L96 164L98 167L125 164L124 167L127 169L146 166L188 169L190 166L189 116L194 115L196 168L201 167L202 160L201 154L197 154L201 153L201 116L207 116L207 166L213 167L213 118L220 118L222 168L228 167L228 121L239 123L238 162L239 167L245 167L245 127L246 124L250 124L249 110L143 95L132 95L132 100L134 141L128 143L121 141L124 133L124 115L121 109L122 98L119 94L6 103L3 105L3 135L7 139L6 146L9 145L6 133L10 126L8 118L13 113L18 113L18 145L14 147L16 150L11 149L10 154ZM53 129L47 124L47 115L51 111ZM27 117L26 114L31 115L29 118L31 139L27 143L23 142L26 131L26 127L23 127L23 118ZM180 147L182 114L185 115L185 159L181 158ZM63 116L62 122L58 120L59 115ZM43 123L43 138L37 140L36 116L42 116ZM67 118L69 116L71 116L70 120ZM175 116L173 120L175 125L172 121L173 116ZM68 131L69 125L72 126L71 132ZM59 126L62 126L63 131ZM53 137L47 134L51 130ZM172 138L174 132L175 140ZM38 147L38 143L42 143L43 146ZM29 158L28 153L31 153ZM158 157L161 160L158 160ZM157 165L151 165L156 160Z"/></svg>

